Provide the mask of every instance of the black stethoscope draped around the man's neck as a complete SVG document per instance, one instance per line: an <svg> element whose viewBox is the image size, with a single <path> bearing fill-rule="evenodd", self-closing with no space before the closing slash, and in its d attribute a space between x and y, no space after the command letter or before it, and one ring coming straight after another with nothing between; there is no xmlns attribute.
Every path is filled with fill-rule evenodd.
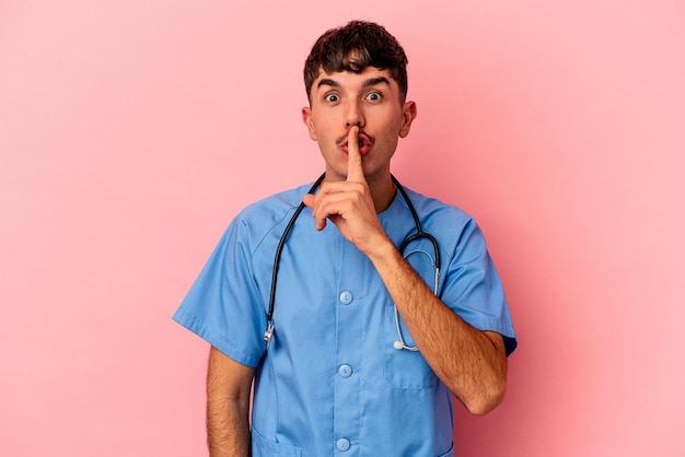
<svg viewBox="0 0 685 457"><path fill-rule="evenodd" d="M307 194L314 194L325 177L326 177L325 173L321 175L318 179L316 179L314 185L310 188L310 190L307 190ZM409 211L411 212L411 218L414 218L414 224L416 225L416 233L408 236L402 242L402 244L399 245L399 251L402 253L405 259L408 258L413 254L422 254L429 258L434 270L433 294L438 295L438 283L440 282L440 248L438 246L438 241L430 233L423 232L423 227L421 226L421 221L419 220L419 216L416 213L416 209L414 208L414 204L411 203L411 200L409 199L409 196L407 195L406 190L404 189L404 187L402 187L402 185L395 178L395 176L391 175L391 178L393 179L393 184L395 184L395 186L397 187L397 190L399 190L399 194L402 194L402 197L407 202L407 207L409 208ZM294 214L292 214L292 218L290 218L290 221L288 222L288 225L286 225L286 230L283 230L283 234L281 235L280 241L278 242L278 247L276 248L276 255L274 257L274 270L271 272L271 291L269 293L269 310L266 315L266 331L264 332L264 340L266 341L267 351L271 343L271 337L274 336L274 303L276 302L276 282L278 280L278 265L280 262L280 255L281 255L281 251L283 250L283 246L286 245L286 239L288 238L288 234L290 234L290 230L294 225L295 221L298 220L298 216L300 215L304 207L305 207L304 202L300 203ZM421 239L421 238L430 241L431 244L433 245L434 259L431 258L430 255L426 250L422 250L422 249L414 249L405 254L405 250L410 243L416 242L417 239ZM405 339L402 335L402 328L399 327L399 314L397 313L397 306L394 303L393 303L393 312L395 314L395 328L397 330L397 340L393 343L393 348L397 350L406 349L407 351L418 351L419 349L416 345L407 345L407 343L405 342Z"/></svg>

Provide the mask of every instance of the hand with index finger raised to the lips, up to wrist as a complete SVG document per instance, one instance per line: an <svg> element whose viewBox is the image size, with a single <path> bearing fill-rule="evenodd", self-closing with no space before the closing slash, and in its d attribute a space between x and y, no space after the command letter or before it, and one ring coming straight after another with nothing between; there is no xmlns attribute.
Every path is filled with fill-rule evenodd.
<svg viewBox="0 0 685 457"><path fill-rule="evenodd" d="M364 177L357 126L348 133L347 150L347 179L324 181L318 194L306 195L302 201L312 210L317 231L324 230L326 220L329 220L346 239L369 255L378 242L382 237L387 239L387 236L376 215Z"/></svg>

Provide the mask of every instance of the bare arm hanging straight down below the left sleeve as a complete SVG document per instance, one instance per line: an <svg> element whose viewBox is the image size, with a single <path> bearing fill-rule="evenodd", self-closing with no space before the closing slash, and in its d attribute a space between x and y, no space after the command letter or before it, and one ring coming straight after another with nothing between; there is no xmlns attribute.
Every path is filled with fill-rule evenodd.
<svg viewBox="0 0 685 457"><path fill-rule="evenodd" d="M249 394L254 368L209 352L207 374L207 443L210 457L251 455Z"/></svg>

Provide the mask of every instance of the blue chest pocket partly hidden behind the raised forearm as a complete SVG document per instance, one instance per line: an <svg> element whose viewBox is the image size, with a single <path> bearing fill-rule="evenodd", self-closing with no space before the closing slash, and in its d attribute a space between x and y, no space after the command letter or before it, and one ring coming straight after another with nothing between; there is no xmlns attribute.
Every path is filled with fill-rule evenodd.
<svg viewBox="0 0 685 457"><path fill-rule="evenodd" d="M385 345L384 359L384 376L385 380L395 387L427 389L436 386L438 377L430 368L423 355L419 351L408 351L406 349L395 349L393 343L399 340L397 336L397 327L395 324L395 312L393 306L385 307ZM399 317L402 337L405 344L414 345L414 340L409 331Z"/></svg>

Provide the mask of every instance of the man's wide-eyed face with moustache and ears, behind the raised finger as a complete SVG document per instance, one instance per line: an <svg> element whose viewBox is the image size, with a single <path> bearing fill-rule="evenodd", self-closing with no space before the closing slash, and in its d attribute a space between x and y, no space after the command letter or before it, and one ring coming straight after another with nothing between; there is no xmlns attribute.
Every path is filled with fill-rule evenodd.
<svg viewBox="0 0 685 457"><path fill-rule="evenodd" d="M311 106L302 108L310 138L326 161L326 179L347 177L347 134L359 126L359 144L368 180L390 176L399 138L409 134L414 102L399 103L399 89L387 70L361 73L320 71L312 84Z"/></svg>

